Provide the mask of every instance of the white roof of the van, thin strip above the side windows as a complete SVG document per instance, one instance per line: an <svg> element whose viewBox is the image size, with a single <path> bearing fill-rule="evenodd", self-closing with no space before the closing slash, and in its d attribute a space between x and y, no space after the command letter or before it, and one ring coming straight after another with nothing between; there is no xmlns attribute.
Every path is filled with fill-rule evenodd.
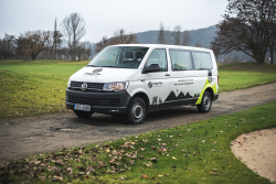
<svg viewBox="0 0 276 184"><path fill-rule="evenodd" d="M109 46L142 46L142 47L158 47L158 48L180 48L180 50L192 50L192 51L211 51L209 48L203 47L194 47L194 46L181 46L181 45L166 45L166 44L118 44L118 45L109 45Z"/></svg>

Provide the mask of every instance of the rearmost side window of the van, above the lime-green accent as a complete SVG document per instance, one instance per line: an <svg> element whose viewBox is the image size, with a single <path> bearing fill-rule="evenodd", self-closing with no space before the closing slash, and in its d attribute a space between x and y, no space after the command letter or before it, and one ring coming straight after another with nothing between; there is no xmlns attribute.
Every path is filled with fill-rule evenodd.
<svg viewBox="0 0 276 184"><path fill-rule="evenodd" d="M212 58L210 53L192 52L194 69L212 69Z"/></svg>

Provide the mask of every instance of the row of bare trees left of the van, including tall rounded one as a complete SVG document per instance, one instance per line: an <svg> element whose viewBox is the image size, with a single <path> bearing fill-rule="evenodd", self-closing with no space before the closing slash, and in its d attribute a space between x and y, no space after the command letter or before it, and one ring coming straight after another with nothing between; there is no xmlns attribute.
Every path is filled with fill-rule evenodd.
<svg viewBox="0 0 276 184"><path fill-rule="evenodd" d="M0 59L32 58L38 55L44 59L88 59L92 54L89 42L81 42L86 34L85 21L78 13L71 13L61 23L57 31L56 20L54 31L26 31L19 36L6 34L0 37Z"/></svg>

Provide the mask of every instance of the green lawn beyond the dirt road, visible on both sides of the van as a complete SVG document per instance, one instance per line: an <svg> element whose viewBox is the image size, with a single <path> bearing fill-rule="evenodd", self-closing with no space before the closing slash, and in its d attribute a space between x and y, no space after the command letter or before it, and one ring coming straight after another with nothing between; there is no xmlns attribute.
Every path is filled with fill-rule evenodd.
<svg viewBox="0 0 276 184"><path fill-rule="evenodd" d="M88 61L0 61L0 119L67 111L68 77ZM276 82L275 65L219 66L220 93Z"/></svg>

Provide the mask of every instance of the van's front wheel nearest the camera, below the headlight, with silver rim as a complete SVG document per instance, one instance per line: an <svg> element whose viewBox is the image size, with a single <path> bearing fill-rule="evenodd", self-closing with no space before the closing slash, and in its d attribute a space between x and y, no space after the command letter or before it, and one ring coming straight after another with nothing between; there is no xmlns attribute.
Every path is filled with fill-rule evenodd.
<svg viewBox="0 0 276 184"><path fill-rule="evenodd" d="M146 102L139 97L135 97L134 99L131 99L126 116L127 121L131 125L142 123L144 119L146 118L146 115L147 115Z"/></svg>

